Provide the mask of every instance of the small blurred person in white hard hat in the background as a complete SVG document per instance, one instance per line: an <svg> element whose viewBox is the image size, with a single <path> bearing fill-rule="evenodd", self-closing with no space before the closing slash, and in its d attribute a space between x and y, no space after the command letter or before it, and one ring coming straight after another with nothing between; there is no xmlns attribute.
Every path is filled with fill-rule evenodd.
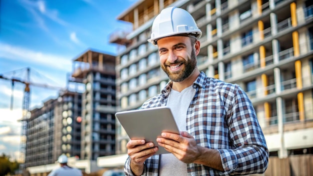
<svg viewBox="0 0 313 176"><path fill-rule="evenodd" d="M53 169L48 176L82 176L82 172L79 169L67 165L66 155L60 155L57 161L60 163L60 167Z"/></svg>

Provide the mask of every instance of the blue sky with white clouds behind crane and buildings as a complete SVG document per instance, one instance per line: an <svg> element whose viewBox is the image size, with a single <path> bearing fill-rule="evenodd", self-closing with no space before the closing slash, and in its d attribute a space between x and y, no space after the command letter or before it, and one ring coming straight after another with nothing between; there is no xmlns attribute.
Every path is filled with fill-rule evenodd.
<svg viewBox="0 0 313 176"><path fill-rule="evenodd" d="M30 67L30 81L64 87L72 60L95 49L117 54L108 42L119 29L131 24L116 17L137 0L0 0L0 74L24 79ZM15 70L15 71L14 71ZM24 85L0 79L0 153L17 157ZM30 107L55 98L57 90L31 86Z"/></svg>

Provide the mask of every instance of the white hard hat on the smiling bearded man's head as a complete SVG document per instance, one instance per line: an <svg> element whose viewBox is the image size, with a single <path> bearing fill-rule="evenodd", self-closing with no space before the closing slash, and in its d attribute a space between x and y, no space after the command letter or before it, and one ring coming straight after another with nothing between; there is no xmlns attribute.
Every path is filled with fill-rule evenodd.
<svg viewBox="0 0 313 176"><path fill-rule="evenodd" d="M197 27L191 14L177 7L167 7L155 17L152 23L151 38L149 42L156 41L165 36L183 35L200 38L202 32Z"/></svg>

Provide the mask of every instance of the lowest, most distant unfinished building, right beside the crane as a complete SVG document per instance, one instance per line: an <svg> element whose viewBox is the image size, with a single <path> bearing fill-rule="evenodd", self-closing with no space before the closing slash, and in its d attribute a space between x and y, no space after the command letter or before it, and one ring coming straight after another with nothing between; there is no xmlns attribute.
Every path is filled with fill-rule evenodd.
<svg viewBox="0 0 313 176"><path fill-rule="evenodd" d="M54 163L62 153L80 155L81 93L63 91L30 112L25 167Z"/></svg>

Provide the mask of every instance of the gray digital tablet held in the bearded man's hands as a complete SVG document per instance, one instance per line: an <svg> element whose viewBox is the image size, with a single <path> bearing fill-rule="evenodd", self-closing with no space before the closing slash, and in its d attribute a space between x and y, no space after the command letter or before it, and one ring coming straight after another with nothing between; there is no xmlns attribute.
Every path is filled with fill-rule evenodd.
<svg viewBox="0 0 313 176"><path fill-rule="evenodd" d="M128 110L115 113L121 126L130 139L144 139L157 145L156 138L161 132L179 134L175 119L168 107L152 107L147 109ZM158 146L155 154L169 153Z"/></svg>

